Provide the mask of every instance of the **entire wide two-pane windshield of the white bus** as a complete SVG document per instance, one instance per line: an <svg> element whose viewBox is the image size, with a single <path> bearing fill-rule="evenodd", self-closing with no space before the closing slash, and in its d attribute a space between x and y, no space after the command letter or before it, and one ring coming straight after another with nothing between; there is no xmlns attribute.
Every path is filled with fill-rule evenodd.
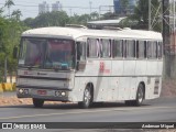
<svg viewBox="0 0 176 132"><path fill-rule="evenodd" d="M74 41L23 38L19 66L35 68L74 68Z"/></svg>

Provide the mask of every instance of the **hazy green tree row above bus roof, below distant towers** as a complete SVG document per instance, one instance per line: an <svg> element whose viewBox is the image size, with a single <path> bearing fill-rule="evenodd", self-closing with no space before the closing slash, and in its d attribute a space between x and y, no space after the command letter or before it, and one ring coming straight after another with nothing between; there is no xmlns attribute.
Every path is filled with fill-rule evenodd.
<svg viewBox="0 0 176 132"><path fill-rule="evenodd" d="M91 14L74 14L68 16L65 11L54 11L42 13L36 18L28 18L23 22L30 28L43 28L43 26L65 26L66 24L82 24L86 25L88 21L99 19L97 12Z"/></svg>

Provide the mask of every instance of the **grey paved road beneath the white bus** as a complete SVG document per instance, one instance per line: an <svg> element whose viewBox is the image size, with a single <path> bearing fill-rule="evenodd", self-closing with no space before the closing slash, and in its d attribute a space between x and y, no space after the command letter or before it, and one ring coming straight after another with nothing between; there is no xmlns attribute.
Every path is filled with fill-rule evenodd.
<svg viewBox="0 0 176 132"><path fill-rule="evenodd" d="M176 98L145 101L142 107L122 102L78 109L75 103L0 107L0 122L176 122Z"/></svg>

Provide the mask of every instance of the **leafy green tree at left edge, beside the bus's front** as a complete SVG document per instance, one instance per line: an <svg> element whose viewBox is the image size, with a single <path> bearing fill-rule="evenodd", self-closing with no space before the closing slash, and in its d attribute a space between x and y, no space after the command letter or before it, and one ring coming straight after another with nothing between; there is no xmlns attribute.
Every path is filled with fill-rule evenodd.
<svg viewBox="0 0 176 132"><path fill-rule="evenodd" d="M3 10L1 10L3 13ZM28 28L22 22L16 20L21 11L13 11L14 18L7 19L0 15L0 81L6 81L7 72L9 75L16 68L16 59L13 59L13 47L19 46L21 33ZM8 65L7 65L8 64ZM6 65L6 68L4 68Z"/></svg>

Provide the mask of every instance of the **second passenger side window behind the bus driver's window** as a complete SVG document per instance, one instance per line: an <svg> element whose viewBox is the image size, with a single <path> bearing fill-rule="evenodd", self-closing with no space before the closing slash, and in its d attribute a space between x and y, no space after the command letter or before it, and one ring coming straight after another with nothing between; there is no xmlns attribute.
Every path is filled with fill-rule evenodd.
<svg viewBox="0 0 176 132"><path fill-rule="evenodd" d="M101 57L110 57L110 40L101 40L100 51Z"/></svg>

